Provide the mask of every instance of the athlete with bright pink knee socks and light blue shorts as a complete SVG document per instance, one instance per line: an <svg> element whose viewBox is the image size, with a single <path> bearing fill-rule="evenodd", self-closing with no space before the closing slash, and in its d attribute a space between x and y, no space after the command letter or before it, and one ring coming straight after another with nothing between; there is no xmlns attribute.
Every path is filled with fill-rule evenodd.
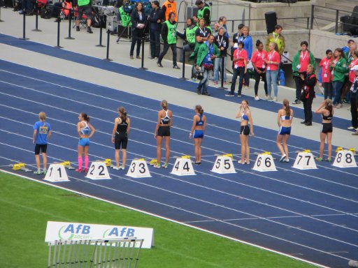
<svg viewBox="0 0 358 268"><path fill-rule="evenodd" d="M85 154L85 169L84 172L88 171L88 149L90 147L90 138L94 134L94 127L90 124L90 117L85 113L78 115L77 133L80 140L78 141L78 169L77 172L82 172L83 157Z"/></svg>

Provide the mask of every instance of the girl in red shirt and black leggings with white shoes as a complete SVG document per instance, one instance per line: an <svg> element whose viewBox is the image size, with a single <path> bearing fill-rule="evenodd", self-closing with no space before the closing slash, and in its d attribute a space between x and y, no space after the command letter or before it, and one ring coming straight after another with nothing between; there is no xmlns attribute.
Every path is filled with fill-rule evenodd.
<svg viewBox="0 0 358 268"><path fill-rule="evenodd" d="M256 41L257 50L252 53L251 63L254 67L254 74L255 74L255 101L259 101L259 96L257 93L259 91L259 82L260 77L264 82L264 89L265 89L265 99L268 99L267 96L267 82L266 82L266 64L265 59L267 57L267 52L264 50L264 44L260 41Z"/></svg>

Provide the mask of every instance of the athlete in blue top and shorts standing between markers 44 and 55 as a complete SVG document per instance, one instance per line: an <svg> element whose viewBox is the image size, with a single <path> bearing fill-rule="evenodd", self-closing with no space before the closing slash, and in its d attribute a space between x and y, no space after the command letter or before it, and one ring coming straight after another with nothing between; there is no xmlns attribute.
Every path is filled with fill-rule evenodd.
<svg viewBox="0 0 358 268"><path fill-rule="evenodd" d="M192 130L189 134L189 137L194 139L195 165L201 165L201 142L206 128L206 116L203 115L203 112L201 105L195 106L196 114L193 117Z"/></svg>

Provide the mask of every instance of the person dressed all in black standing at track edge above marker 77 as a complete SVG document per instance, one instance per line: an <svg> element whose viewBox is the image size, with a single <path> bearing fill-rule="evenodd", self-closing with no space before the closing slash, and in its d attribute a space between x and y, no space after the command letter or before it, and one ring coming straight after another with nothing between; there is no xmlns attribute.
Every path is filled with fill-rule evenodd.
<svg viewBox="0 0 358 268"><path fill-rule="evenodd" d="M317 77L315 73L313 73L312 64L308 64L307 73L302 73L299 77L303 84L301 101L303 101L303 109L305 112L305 121L302 121L301 124L312 126L312 103L313 98L315 98L315 85L317 83Z"/></svg>

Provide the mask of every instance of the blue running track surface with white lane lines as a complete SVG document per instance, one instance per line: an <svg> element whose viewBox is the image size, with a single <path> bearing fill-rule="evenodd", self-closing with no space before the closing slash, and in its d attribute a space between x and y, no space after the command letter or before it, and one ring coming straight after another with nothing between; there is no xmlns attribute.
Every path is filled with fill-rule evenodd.
<svg viewBox="0 0 358 268"><path fill-rule="evenodd" d="M7 39L1 42L3 40ZM38 50L29 42L20 43L20 47ZM71 53L50 47L45 51L52 56ZM81 57L83 60L83 55ZM88 64L88 60L84 61ZM98 59L93 59L91 65L104 69L116 66ZM6 61L0 61L0 66L0 165L3 170L10 170L6 168L10 163L34 163L32 126L42 110L47 113L54 131L48 147L49 163L76 161L76 124L80 112L90 114L97 130L91 140L90 161L113 158L110 134L120 105L127 108L131 117L128 157L155 158L153 132L158 101ZM129 72L127 68L115 69L122 73ZM164 81L158 74L134 68L130 72L143 80L151 77L153 82ZM169 82L185 87L174 79ZM268 110L277 110L273 103L267 105L270 105ZM174 105L170 108L175 114L171 156L193 154L192 141L187 137L192 125L192 109ZM294 158L291 158L291 163L275 162L278 172L261 173L252 170L255 160L252 158L250 166L236 164L236 174L210 172L214 154L238 154L240 143L236 121L212 114L207 116L209 126L203 141L203 165L194 167L196 176L176 177L169 173L171 165L168 170L150 168L150 178L132 179L125 176L126 172L110 170L112 179L92 181L84 174L69 170L71 181L57 185L327 267L345 267L349 259L357 259L357 168L343 170L329 163L318 163L317 170L301 171L292 169ZM345 121L341 120L341 124ZM249 141L252 153L278 151L276 131L255 126L255 135ZM317 142L293 135L289 144L292 152L318 148ZM33 164L29 166L34 168ZM33 174L26 175L41 180Z"/></svg>

